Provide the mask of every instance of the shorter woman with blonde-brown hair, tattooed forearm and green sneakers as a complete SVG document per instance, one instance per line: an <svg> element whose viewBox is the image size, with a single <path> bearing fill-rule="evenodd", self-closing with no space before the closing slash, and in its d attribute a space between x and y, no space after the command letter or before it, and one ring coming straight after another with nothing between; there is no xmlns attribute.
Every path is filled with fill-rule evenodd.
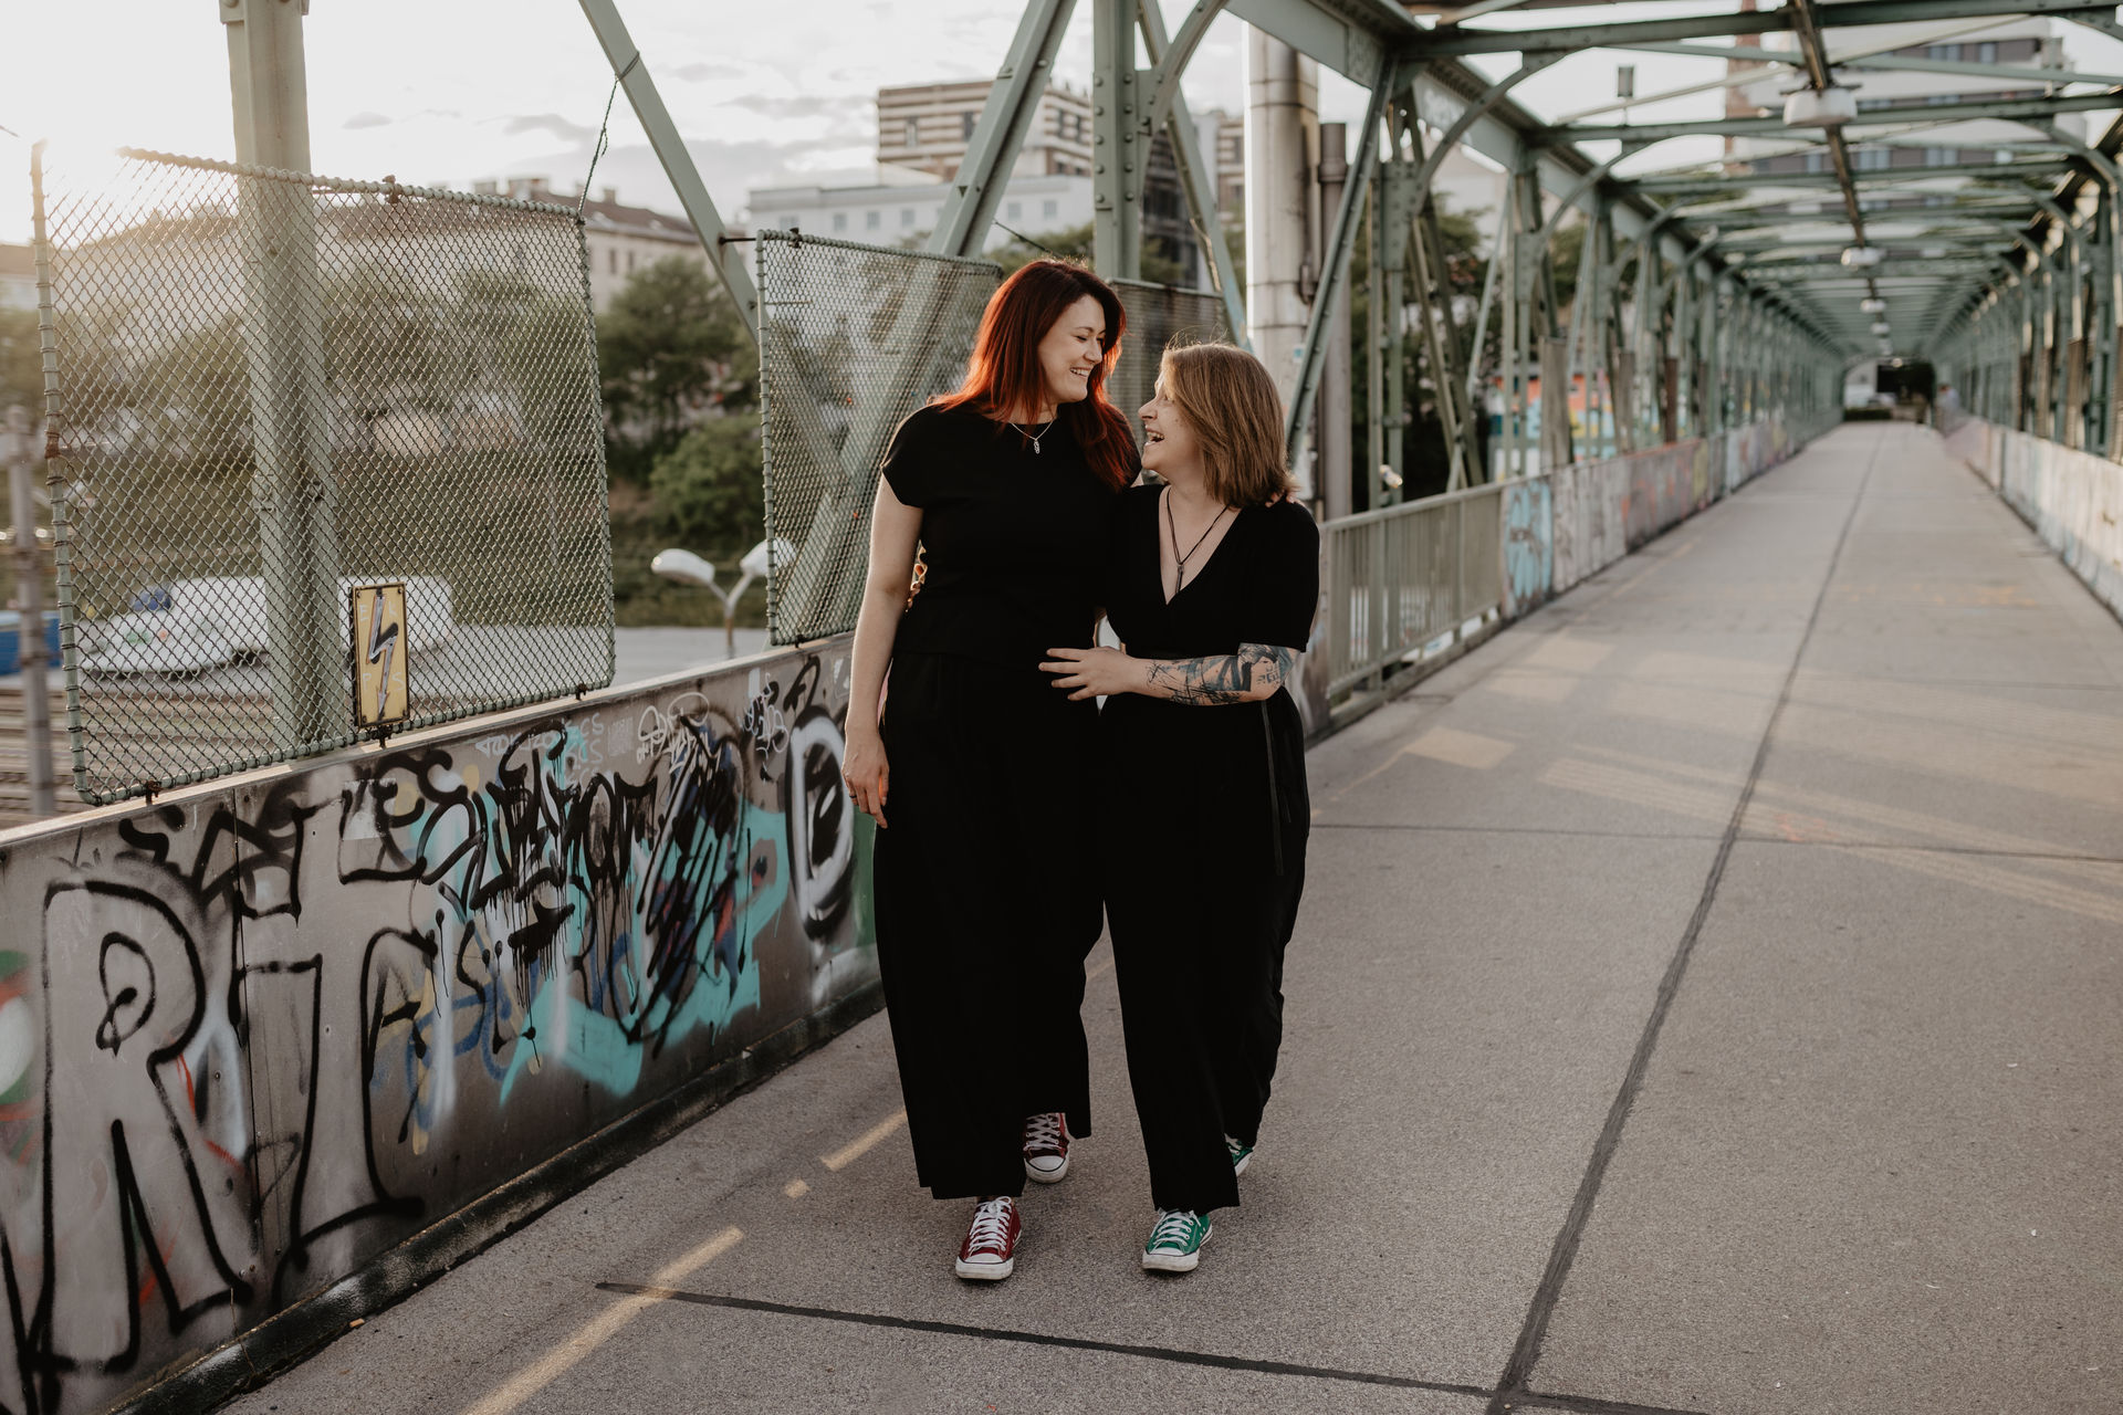
<svg viewBox="0 0 2123 1415"><path fill-rule="evenodd" d="M1289 685L1318 526L1289 496L1282 403L1253 354L1168 348L1142 426L1163 484L1121 496L1104 586L1125 647L1055 647L1042 668L1106 698L1106 925L1157 1205L1142 1266L1185 1273L1210 1209L1238 1203L1282 1042L1312 821Z"/></svg>

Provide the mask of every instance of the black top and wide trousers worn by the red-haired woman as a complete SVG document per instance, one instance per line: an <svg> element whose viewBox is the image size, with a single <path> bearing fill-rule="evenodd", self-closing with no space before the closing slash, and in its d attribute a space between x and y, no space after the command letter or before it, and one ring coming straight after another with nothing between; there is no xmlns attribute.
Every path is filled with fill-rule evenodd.
<svg viewBox="0 0 2123 1415"><path fill-rule="evenodd" d="M1064 422L915 412L885 479L928 564L885 687L877 963L915 1171L936 1199L1021 1194L1023 1120L1091 1133L1083 959L1098 942L1093 702L1040 672L1089 647L1117 492Z"/></svg>

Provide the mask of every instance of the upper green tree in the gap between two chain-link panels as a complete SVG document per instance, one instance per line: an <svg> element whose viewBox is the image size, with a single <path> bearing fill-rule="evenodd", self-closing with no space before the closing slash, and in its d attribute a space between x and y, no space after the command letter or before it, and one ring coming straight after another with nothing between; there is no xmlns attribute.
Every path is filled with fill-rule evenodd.
<svg viewBox="0 0 2123 1415"><path fill-rule="evenodd" d="M641 475L694 422L758 401L760 356L730 297L688 257L637 269L597 318L611 465Z"/></svg>

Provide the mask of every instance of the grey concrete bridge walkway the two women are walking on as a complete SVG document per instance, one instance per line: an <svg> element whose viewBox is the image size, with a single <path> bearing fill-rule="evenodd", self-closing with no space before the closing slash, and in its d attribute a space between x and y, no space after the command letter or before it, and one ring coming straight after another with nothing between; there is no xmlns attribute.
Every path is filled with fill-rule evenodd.
<svg viewBox="0 0 2123 1415"><path fill-rule="evenodd" d="M2123 626L1936 437L1836 431L1312 781L1195 1275L1136 1266L1100 946L1011 1281L873 1018L234 1409L2123 1409Z"/></svg>

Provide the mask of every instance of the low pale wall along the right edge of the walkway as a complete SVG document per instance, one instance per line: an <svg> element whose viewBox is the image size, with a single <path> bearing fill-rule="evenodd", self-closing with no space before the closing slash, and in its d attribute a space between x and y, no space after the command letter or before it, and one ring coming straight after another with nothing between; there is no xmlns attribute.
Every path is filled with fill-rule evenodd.
<svg viewBox="0 0 2123 1415"><path fill-rule="evenodd" d="M1962 418L1947 448L2123 615L2123 465L1981 418Z"/></svg>

